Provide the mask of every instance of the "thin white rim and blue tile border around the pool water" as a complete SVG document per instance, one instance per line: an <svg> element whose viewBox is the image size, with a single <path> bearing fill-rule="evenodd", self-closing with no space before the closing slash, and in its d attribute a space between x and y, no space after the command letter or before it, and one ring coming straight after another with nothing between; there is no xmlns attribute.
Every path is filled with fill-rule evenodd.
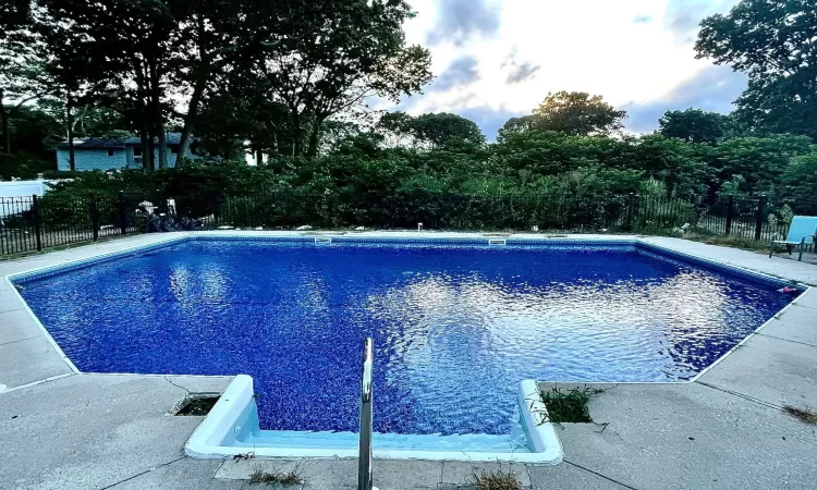
<svg viewBox="0 0 817 490"><path fill-rule="evenodd" d="M28 269L28 270L24 270L24 271L20 271L20 272L14 272L14 273L5 274L3 277L3 279L5 280L5 282L8 283L8 285L13 291L13 294L17 297L17 299L24 306L24 308L27 311L27 314L32 317L32 319L34 319L35 323L38 326L38 328L40 329L41 333L46 336L46 339L49 341L49 343L56 350L56 352L60 355L60 357L66 363L66 365L71 368L71 370L74 373L82 373L82 371L80 371L76 368L76 366L73 364L73 362L71 362L71 359L64 354L64 352L56 343L56 341L53 341L53 339L48 333L48 331L46 330L46 328L37 319L36 315L34 315L34 313L31 310L31 308L25 303L25 301L23 299L23 297L20 294L20 292L16 290L16 287L14 287L14 282L13 281L20 281L21 279L22 280L31 280L31 279L35 279L35 278L38 278L38 277L50 275L51 273L60 273L60 272L63 272L65 270L72 270L72 269L75 269L75 268L78 268L78 267L87 267L87 266L93 265L93 264L108 261L108 260L120 258L120 257L123 257L123 256L133 255L133 254L136 254L136 253L142 253L142 252L149 250L149 249L161 248L161 247L170 246L170 245L173 245L173 244L176 244L176 243L186 242L186 241L191 241L191 240L203 240L203 238L204 240L219 240L219 238L221 238L221 240L223 240L223 238L227 238L227 240L229 240L229 238L247 240L247 238L249 238L249 240L258 240L258 241L283 240L283 241L309 242L315 236L304 236L301 233L297 233L297 234L292 234L292 233L288 233L288 234L280 234L280 233L267 234L267 233L264 233L261 235L258 232L249 232L249 233L242 233L242 232L230 232L230 233L224 233L224 232L215 232L215 233L212 233L212 232L194 232L194 233L186 233L186 234L183 234L183 235L171 236L171 237L168 237L167 240L162 240L162 241L159 241L159 242L156 242L156 243L153 243L153 244L135 245L135 246L126 247L126 248L123 248L123 249L120 249L120 250L114 250L114 252L109 252L109 253L101 253L101 254L92 255L89 257L85 257L85 258L81 258L81 259L69 260L66 262L59 264L59 265L52 265L52 266L33 268L33 269ZM368 243L373 243L373 242L378 242L378 243L417 243L417 242L426 242L427 243L427 242L429 242L429 237L426 237L426 236L414 236L414 237L411 237L411 238L407 238L407 240L404 238L403 236L394 236L394 235L385 235L385 236L380 236L380 237L378 237L378 236L374 236L374 237L373 236L367 236L367 237L362 237L362 238L356 238L355 236L345 236L345 235L320 235L320 237L331 237L331 238L333 238L334 241L337 241L339 243L344 243L344 242L368 242ZM438 234L435 234L435 236L430 237L430 241L432 243L480 243L481 242L481 243L486 243L487 244L488 241L490 241L490 240L498 240L498 238L496 238L496 237L488 237L488 236L466 236L466 237L463 237L460 234L454 234L453 236L439 236ZM519 238L519 240L514 240L513 237L508 237L508 238L501 238L501 240L507 240L507 242L509 242L511 244L515 244L515 243L519 243L519 244L551 244L551 245L577 245L577 244L578 245L581 245L581 244L587 244L587 245L606 245L606 244L610 244L610 245L626 245L626 244L636 244L636 245L645 246L646 248L649 248L649 249L657 250L658 253L662 253L662 254L670 255L670 256L676 256L676 257L680 257L682 259L686 259L686 260L690 260L690 261L693 261L693 262L696 262L696 264L704 264L704 265L706 265L708 267L714 267L716 269L725 270L725 271L731 272L731 273L737 273L739 275L744 275L745 274L745 275L749 275L753 279L760 278L765 282L768 281L768 282L773 283L773 284L792 284L792 281L782 280L782 279L777 278L777 277L771 275L771 274L767 274L767 273L764 273L764 272L760 272L760 271L752 270L752 269L740 267L740 266L734 266L734 265L730 265L730 264L720 262L718 260L711 260L711 259L708 259L708 258L705 258L705 257L696 256L694 254L687 254L687 253L674 250L674 249L671 249L671 248L662 247L660 245L656 245L656 244L646 242L646 241L642 240L642 237L635 237L635 236L615 236L615 237L610 236L610 237L601 237L601 238L587 238L587 237L578 237L578 238L571 238L571 237L528 237L528 238ZM802 293L803 295L806 294L812 289L808 285L803 285L803 286L805 287L805 290ZM796 301L792 301L783 309L781 309L775 316L772 316L772 318L770 318L764 324L761 324L760 327L758 327L754 332L752 332L746 338L744 338L739 344L736 344L729 352L724 353L721 357L719 357L718 359L716 359L712 364L710 364L707 368L705 368L699 373L697 373L694 378L692 378L690 380L682 380L682 381L674 381L674 382L656 381L656 382L647 382L647 383L650 383L650 384L681 384L681 383L692 383L692 382L695 382L699 377L704 376L707 371L709 371L710 369L712 369L714 367L716 367L720 362L722 362L725 357L728 357L737 347L740 347L741 345L745 344L756 333L758 333L761 329L764 329L769 322L771 322L773 319L778 318L786 309L789 309L790 307L792 307L795 304L796 304ZM133 373L126 373L126 375L146 376L146 375L133 375ZM63 376L66 376L66 375L63 375ZM70 376L70 375L68 375L68 376ZM149 376L149 375L147 375L147 376ZM155 376L164 376L164 375L155 375ZM542 382L552 382L552 381L542 381ZM560 383L574 383L574 381L559 381L559 382ZM638 383L644 384L644 382L635 382L635 384L638 384ZM588 383L588 384L590 384L590 383ZM626 383L618 383L618 384L626 384ZM16 387L16 388L24 388L24 387ZM15 388L13 388L13 389L15 389ZM207 419L205 419L205 421ZM204 424L203 424L203 426L204 426ZM552 430L552 425L548 422L548 426L550 426L550 429ZM554 431L553 431L553 434L556 436ZM195 432L194 432L194 436L195 436ZM191 440L193 440L193 438L191 438ZM558 437L557 437L557 441L558 441ZM560 453L561 453L561 444L559 444L559 449L560 449ZM378 454L378 451L375 451L375 456L376 457L380 457L380 458L400 457L399 454L394 454L394 453L395 453L394 451L386 451L386 452L380 452ZM236 453L232 453L230 455L234 455L234 454L236 454ZM454 456L454 454L458 454L458 453L446 452L442 455L444 457L428 457L429 455L426 454L425 456L427 456L427 457L417 456L416 458L423 458L423 460L428 460L428 458L438 460L438 458L440 458L440 460L449 460L449 461L456 461L456 460L461 460L461 461L498 461L497 457L490 457L490 458L484 458L484 460L480 460L480 458L475 460L473 457L467 457L466 456L466 457L459 458L459 457ZM464 454L464 453L460 453L460 454ZM477 453L477 454L486 455L486 454L489 454L489 453ZM520 456L525 456L525 454L513 454L513 457L505 457L505 456L511 455L511 454L512 453L501 453L501 457L499 458L499 461L509 461L509 462L519 462L519 463L532 463L532 462L525 461L525 458L523 458L523 457L520 457ZM534 454L536 454L536 453L528 453L528 455L534 455ZM261 456L263 454L257 454L257 455ZM493 456L496 456L496 455L497 454L493 454ZM227 455L227 456L229 457L229 455ZM224 456L221 456L221 457L224 457ZM291 454L291 451L290 451L290 454L279 455L279 456L275 456L275 457L300 457L300 456ZM303 457L315 457L315 456L303 456ZM328 456L328 457L332 457L332 456ZM407 458L411 458L411 457L407 457ZM554 461L554 463L560 462L561 461L561 456L558 460L559 461ZM539 462L539 464L541 464L541 463Z"/></svg>

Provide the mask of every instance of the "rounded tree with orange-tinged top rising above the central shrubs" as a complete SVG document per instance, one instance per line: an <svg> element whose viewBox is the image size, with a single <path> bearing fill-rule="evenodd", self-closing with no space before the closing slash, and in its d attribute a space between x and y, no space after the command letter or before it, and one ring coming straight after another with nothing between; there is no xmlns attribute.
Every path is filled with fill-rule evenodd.
<svg viewBox="0 0 817 490"><path fill-rule="evenodd" d="M523 126L537 131L556 131L573 136L609 135L620 132L627 113L615 110L601 96L584 91L548 94L533 118L522 121Z"/></svg>

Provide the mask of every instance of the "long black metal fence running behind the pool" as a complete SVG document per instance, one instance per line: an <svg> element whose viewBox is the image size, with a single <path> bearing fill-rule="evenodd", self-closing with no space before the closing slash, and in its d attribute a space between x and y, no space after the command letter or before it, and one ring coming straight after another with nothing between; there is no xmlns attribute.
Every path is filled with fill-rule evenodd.
<svg viewBox="0 0 817 490"><path fill-rule="evenodd" d="M0 255L141 233L151 215L200 220L205 226L286 230L353 226L379 229L541 232L642 232L668 230L769 241L785 234L793 215L817 215L817 201L768 197L638 196L597 198L552 195L453 193L279 192L224 196L115 195L0 198Z"/></svg>

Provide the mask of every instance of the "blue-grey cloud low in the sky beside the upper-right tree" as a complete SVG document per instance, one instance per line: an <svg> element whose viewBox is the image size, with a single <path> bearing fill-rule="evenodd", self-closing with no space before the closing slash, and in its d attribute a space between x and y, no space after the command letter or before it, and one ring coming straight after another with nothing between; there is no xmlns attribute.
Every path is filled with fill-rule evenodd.
<svg viewBox="0 0 817 490"><path fill-rule="evenodd" d="M746 89L746 75L728 66L708 66L695 76L681 82L658 99L630 102L623 109L630 115L624 120L627 131L649 133L658 128L658 120L669 110L688 108L728 113L734 101Z"/></svg>

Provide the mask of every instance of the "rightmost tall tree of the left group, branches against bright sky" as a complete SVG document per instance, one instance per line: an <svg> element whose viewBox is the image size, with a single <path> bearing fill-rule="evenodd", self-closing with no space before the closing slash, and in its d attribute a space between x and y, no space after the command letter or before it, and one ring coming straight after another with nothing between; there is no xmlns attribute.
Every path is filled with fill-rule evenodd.
<svg viewBox="0 0 817 490"><path fill-rule="evenodd" d="M402 24L413 15L405 1L332 4L330 11L295 14L281 26L279 42L247 66L266 81L259 89L282 102L292 126L304 134L294 138L295 156L317 154L329 118L365 109L371 96L398 101L431 79L428 50L405 42ZM304 9L310 8L306 2Z"/></svg>

